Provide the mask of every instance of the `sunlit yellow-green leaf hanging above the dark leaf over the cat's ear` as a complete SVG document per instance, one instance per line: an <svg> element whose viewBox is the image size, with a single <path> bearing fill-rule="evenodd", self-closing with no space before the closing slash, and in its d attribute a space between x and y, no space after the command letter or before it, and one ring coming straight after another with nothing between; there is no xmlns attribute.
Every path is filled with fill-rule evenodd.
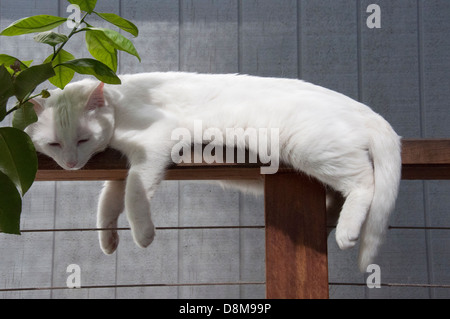
<svg viewBox="0 0 450 319"><path fill-rule="evenodd" d="M86 46L94 58L117 72L117 50L103 33L87 30Z"/></svg>

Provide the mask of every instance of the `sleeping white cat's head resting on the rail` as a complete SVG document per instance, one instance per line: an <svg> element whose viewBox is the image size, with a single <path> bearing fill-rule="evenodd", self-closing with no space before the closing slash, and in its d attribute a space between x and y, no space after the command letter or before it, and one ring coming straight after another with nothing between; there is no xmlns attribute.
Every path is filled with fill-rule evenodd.
<svg viewBox="0 0 450 319"><path fill-rule="evenodd" d="M36 150L69 170L82 168L103 151L114 129L114 110L103 88L103 83L83 80L50 91L47 99L31 100L38 121L25 131Z"/></svg>

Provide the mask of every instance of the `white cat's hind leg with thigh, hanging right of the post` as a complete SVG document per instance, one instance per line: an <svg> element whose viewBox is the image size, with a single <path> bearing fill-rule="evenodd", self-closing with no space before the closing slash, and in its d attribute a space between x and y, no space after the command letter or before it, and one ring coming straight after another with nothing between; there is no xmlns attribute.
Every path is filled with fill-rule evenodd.
<svg viewBox="0 0 450 319"><path fill-rule="evenodd" d="M351 248L359 238L374 195L374 169L365 141L353 134L324 145L303 144L286 147L284 157L294 168L342 194L344 204L336 226L336 241L341 249Z"/></svg>

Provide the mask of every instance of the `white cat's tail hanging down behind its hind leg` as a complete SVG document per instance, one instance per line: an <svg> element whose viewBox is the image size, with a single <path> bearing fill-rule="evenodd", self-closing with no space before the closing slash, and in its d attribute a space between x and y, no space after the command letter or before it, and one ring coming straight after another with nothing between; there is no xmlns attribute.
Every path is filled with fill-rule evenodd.
<svg viewBox="0 0 450 319"><path fill-rule="evenodd" d="M361 233L359 268L373 262L388 228L401 179L401 139L379 115L367 124L374 167L374 195Z"/></svg>

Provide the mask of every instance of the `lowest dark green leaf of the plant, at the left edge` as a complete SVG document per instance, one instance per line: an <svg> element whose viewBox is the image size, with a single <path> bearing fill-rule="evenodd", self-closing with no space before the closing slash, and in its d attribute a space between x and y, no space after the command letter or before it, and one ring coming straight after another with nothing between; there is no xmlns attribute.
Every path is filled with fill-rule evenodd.
<svg viewBox="0 0 450 319"><path fill-rule="evenodd" d="M14 183L0 172L0 232L20 235L22 198Z"/></svg>

